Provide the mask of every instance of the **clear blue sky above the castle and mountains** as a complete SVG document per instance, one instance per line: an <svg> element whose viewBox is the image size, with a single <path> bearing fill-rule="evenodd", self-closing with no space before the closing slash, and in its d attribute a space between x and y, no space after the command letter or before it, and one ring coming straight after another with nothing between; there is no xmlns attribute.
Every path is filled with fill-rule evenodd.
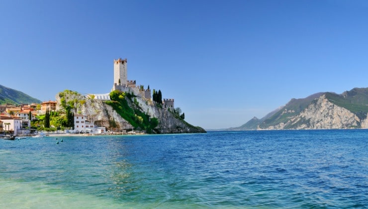
<svg viewBox="0 0 368 209"><path fill-rule="evenodd" d="M240 126L291 98L368 87L364 0L2 0L0 84L41 101L128 79L203 128Z"/></svg>

